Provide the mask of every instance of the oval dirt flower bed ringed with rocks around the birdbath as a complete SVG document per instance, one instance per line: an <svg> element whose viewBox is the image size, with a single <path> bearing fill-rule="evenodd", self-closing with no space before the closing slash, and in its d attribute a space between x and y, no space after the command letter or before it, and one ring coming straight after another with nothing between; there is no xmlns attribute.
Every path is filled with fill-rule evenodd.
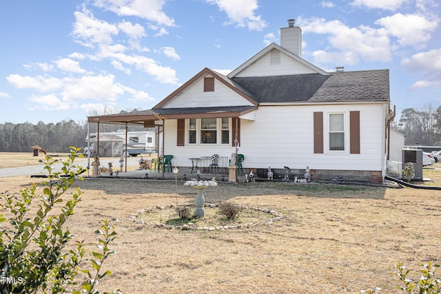
<svg viewBox="0 0 441 294"><path fill-rule="evenodd" d="M235 209L232 209L231 204L228 203L225 210L222 204L205 204L203 218L194 216L196 208L194 205L176 206L176 204L141 209L132 213L128 218L139 224L152 225L162 229L207 231L257 227L272 224L283 218L280 213L266 208L234 204ZM236 211L236 209L237 212L232 213L231 210ZM187 213L186 217L180 217L185 215L185 212ZM234 214L234 218L231 218L232 214Z"/></svg>

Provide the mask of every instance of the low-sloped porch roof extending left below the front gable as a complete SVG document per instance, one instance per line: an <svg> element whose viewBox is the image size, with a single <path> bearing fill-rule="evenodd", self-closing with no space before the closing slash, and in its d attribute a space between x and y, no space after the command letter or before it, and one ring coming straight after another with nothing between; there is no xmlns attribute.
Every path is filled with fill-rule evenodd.
<svg viewBox="0 0 441 294"><path fill-rule="evenodd" d="M239 117L254 112L257 106L219 106L219 107L192 107L192 108L160 108L121 114L106 114L102 116L88 116L89 123L114 123L129 125L147 125L154 120L178 118L223 118Z"/></svg>

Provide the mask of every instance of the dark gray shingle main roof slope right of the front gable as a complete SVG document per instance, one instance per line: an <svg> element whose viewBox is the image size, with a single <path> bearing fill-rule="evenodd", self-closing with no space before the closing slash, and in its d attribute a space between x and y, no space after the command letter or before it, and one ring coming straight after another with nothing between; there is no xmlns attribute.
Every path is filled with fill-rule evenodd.
<svg viewBox="0 0 441 294"><path fill-rule="evenodd" d="M389 70L236 77L234 85L258 103L389 100Z"/></svg>

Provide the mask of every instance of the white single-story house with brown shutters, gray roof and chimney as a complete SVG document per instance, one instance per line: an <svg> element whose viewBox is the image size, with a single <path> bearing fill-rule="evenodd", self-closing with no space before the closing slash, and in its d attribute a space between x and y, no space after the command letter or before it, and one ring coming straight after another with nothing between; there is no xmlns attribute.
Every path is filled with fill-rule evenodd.
<svg viewBox="0 0 441 294"><path fill-rule="evenodd" d="M155 107L91 116L92 123L163 125L163 154L229 158L235 138L243 167L312 180L380 183L389 154L389 70L326 72L302 59L301 29L289 20L271 43L228 76L205 68ZM223 165L226 163L223 162ZM205 165L199 162L199 166Z"/></svg>

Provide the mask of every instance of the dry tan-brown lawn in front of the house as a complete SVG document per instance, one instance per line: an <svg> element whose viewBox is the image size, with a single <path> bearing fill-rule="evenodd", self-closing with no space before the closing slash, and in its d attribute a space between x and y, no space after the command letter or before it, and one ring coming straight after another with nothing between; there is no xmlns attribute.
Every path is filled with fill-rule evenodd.
<svg viewBox="0 0 441 294"><path fill-rule="evenodd" d="M38 161L38 160L37 160ZM1 157L1 167L8 165ZM12 164L11 164L12 165ZM441 167L440 164L434 167ZM441 186L441 169L424 169ZM1 191L38 179L0 178ZM181 231L139 224L140 209L176 203L174 182L86 179L83 202L70 219L76 240L96 241L101 219L117 218L113 274L101 291L123 293L400 293L392 274L403 262L440 263L441 191L314 183L220 184L206 202L229 200L277 211L273 224L225 231ZM196 191L178 182L178 202ZM164 211L161 219L176 218ZM90 247L92 250L92 246ZM439 275L439 274L438 274Z"/></svg>

